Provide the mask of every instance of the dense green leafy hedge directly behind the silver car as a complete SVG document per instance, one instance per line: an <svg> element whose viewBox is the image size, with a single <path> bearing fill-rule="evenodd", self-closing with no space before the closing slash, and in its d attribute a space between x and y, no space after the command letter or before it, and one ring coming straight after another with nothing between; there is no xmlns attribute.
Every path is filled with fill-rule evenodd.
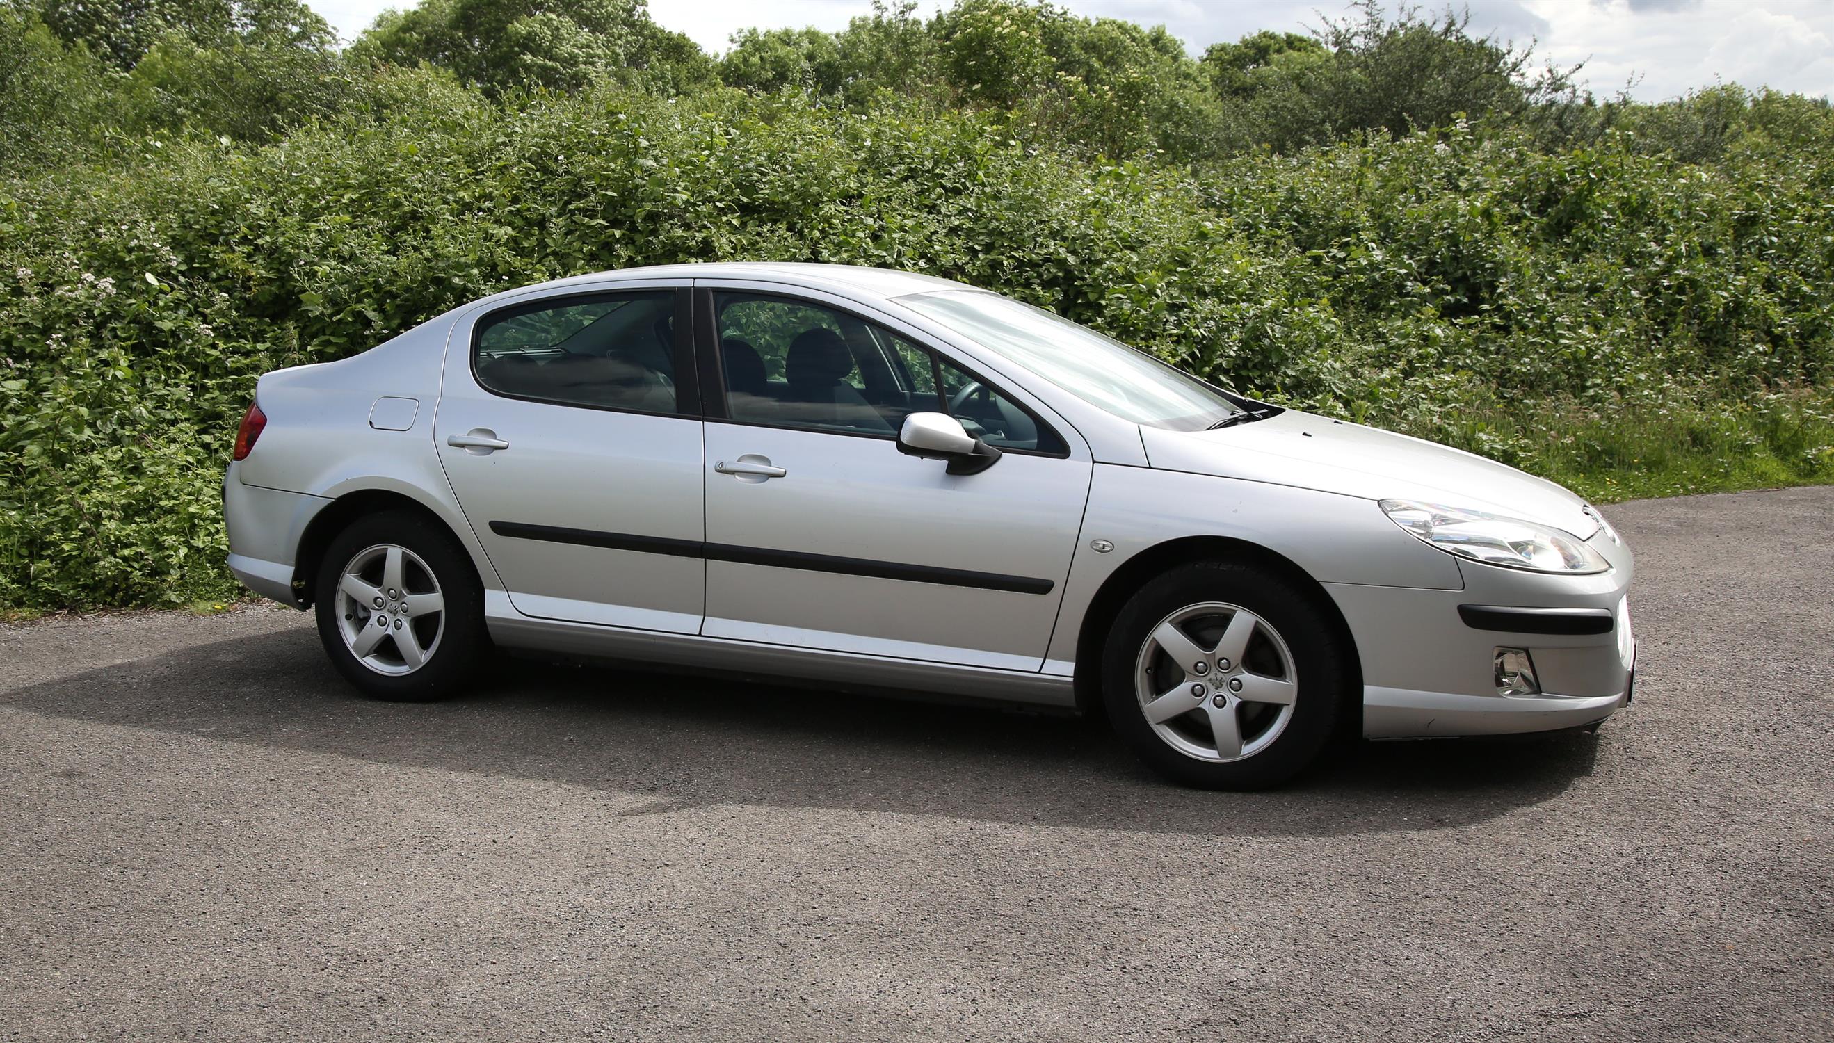
<svg viewBox="0 0 1834 1043"><path fill-rule="evenodd" d="M227 594L218 482L260 372L679 260L963 279L1599 497L1830 480L1830 180L1762 134L1682 163L1458 126L1192 170L895 103L497 106L398 73L268 147L149 139L0 189L0 607Z"/></svg>

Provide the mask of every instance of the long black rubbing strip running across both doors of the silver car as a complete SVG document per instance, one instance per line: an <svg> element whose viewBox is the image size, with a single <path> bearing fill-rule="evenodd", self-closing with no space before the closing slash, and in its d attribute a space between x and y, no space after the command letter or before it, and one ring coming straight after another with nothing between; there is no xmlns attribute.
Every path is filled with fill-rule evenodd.
<svg viewBox="0 0 1834 1043"><path fill-rule="evenodd" d="M673 557L704 557L708 561L732 561L735 565L768 565L774 568L801 568L805 572L834 572L840 576L871 576L875 579L904 579L910 583L939 583L943 587L967 587L972 590L1007 590L1012 594L1049 594L1056 588L1051 579L1033 579L1029 576L1007 576L1003 572L972 572L967 568L939 568L935 565L904 565L899 561L873 561L867 557L838 557L833 554L805 554L800 550L768 550L761 546L735 546L730 543L701 543L693 539L668 539L658 535L627 535L618 532L596 532L589 528L561 528L552 524L526 522L490 522L490 532L514 539L541 539L547 543L574 543L580 546L607 546L611 550L636 550L642 554L668 554Z"/></svg>

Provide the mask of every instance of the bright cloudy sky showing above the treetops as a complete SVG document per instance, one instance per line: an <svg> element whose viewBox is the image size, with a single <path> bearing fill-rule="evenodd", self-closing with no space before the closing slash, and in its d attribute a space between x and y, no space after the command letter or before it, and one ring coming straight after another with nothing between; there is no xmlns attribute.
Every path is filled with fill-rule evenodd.
<svg viewBox="0 0 1834 1043"><path fill-rule="evenodd" d="M939 0L921 0L924 15ZM403 0L308 0L347 40ZM1258 29L1306 31L1342 0L1056 0L1089 18L1165 26L1192 55ZM1629 86L1641 101L1680 97L1696 86L1739 82L1834 95L1834 0L1467 0L1471 27L1498 40L1535 42L1539 59L1585 62L1581 81L1599 95ZM871 0L649 0L649 15L723 51L735 29L842 29L871 13ZM1440 0L1421 4L1440 9Z"/></svg>

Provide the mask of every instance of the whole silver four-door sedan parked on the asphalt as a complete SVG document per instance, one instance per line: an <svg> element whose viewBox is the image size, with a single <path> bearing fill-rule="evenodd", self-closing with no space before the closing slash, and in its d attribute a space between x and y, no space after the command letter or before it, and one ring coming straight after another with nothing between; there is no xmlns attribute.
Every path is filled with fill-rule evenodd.
<svg viewBox="0 0 1834 1043"><path fill-rule="evenodd" d="M1596 726L1592 506L926 275L688 264L497 293L260 378L229 568L380 698L493 647L1104 713L1165 775Z"/></svg>

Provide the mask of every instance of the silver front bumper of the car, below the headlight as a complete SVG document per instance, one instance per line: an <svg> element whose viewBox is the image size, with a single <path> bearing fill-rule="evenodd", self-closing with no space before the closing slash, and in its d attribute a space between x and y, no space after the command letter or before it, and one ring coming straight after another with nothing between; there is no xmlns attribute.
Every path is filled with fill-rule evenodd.
<svg viewBox="0 0 1834 1043"><path fill-rule="evenodd" d="M1363 664L1363 735L1555 731L1596 724L1627 706L1636 662L1630 552L1603 533L1592 544L1610 572L1544 576L1460 563L1464 590L1326 585ZM1596 632L1607 614L1608 631ZM1506 629L1511 620L1530 629ZM1528 649L1542 695L1498 695L1498 647Z"/></svg>

